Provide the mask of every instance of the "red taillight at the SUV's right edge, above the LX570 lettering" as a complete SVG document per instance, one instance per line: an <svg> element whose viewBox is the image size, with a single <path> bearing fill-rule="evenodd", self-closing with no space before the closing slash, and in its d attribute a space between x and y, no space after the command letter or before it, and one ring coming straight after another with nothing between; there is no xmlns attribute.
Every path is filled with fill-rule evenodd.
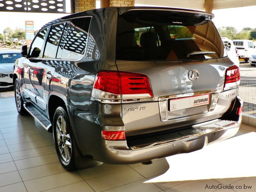
<svg viewBox="0 0 256 192"><path fill-rule="evenodd" d="M226 69L224 88L235 87L240 84L240 70L239 67L233 65Z"/></svg>

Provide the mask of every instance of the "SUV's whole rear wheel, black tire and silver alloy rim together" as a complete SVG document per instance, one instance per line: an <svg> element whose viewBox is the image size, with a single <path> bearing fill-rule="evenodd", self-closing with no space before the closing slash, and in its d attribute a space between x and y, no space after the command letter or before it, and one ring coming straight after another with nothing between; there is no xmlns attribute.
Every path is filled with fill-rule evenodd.
<svg viewBox="0 0 256 192"><path fill-rule="evenodd" d="M75 171L75 140L73 139L68 112L58 107L53 116L53 138L61 165L68 171Z"/></svg>

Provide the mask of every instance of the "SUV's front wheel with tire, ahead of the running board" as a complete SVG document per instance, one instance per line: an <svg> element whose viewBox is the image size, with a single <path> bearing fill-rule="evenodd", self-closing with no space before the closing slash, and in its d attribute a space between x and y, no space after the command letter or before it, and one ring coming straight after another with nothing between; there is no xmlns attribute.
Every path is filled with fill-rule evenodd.
<svg viewBox="0 0 256 192"><path fill-rule="evenodd" d="M16 79L14 82L14 96L15 96L15 103L16 103L16 108L17 108L18 113L20 115L27 115L28 111L23 106L24 101L21 96L20 84L19 84L18 79Z"/></svg>

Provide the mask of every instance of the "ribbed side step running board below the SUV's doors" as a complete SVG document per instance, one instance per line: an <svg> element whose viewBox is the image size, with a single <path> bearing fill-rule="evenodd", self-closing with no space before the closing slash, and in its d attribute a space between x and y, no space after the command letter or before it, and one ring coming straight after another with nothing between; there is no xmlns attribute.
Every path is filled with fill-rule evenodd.
<svg viewBox="0 0 256 192"><path fill-rule="evenodd" d="M50 127L52 126L51 122L49 119L47 119L44 115L43 112L36 108L32 103L27 102L26 104L23 105L24 108L30 113L47 131L49 131Z"/></svg>

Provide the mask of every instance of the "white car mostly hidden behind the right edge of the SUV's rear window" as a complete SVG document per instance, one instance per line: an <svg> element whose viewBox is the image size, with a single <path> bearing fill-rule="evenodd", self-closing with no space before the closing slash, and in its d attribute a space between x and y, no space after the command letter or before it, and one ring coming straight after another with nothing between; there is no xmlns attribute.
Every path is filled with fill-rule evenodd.
<svg viewBox="0 0 256 192"><path fill-rule="evenodd" d="M225 45L229 59L232 60L237 67L239 67L239 57L232 40L228 39L227 37L221 37L221 39Z"/></svg>

